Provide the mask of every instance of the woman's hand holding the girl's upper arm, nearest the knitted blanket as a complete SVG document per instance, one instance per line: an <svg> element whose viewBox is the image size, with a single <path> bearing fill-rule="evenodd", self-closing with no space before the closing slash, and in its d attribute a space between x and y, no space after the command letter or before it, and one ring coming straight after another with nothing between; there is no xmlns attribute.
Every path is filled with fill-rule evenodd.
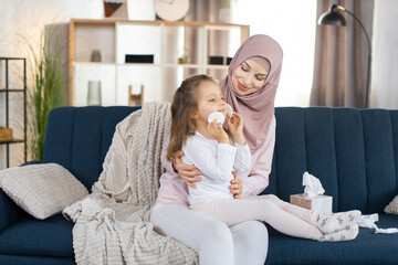
<svg viewBox="0 0 398 265"><path fill-rule="evenodd" d="M182 151L177 151L175 153L175 158L172 159L172 168L175 169L175 171L178 172L178 174L187 183L187 186L196 188L196 184L193 183L197 181L201 181L201 178L197 176L203 173L199 171L195 165L184 163L181 160L182 156L184 156Z"/></svg>

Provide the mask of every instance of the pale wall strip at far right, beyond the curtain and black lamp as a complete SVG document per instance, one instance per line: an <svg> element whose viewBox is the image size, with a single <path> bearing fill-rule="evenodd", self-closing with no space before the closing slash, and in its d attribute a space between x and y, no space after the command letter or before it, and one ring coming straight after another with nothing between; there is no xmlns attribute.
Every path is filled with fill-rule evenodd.
<svg viewBox="0 0 398 265"><path fill-rule="evenodd" d="M370 107L398 108L397 18L397 0L375 0Z"/></svg>

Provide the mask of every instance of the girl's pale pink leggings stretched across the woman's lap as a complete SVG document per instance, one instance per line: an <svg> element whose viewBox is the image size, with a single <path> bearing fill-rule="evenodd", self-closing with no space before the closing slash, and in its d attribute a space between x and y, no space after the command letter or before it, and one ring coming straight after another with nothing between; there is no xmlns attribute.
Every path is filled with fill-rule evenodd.
<svg viewBox="0 0 398 265"><path fill-rule="evenodd" d="M312 211L284 202L275 195L244 197L242 199L209 199L193 203L191 210L212 216L228 226L259 220L275 230L301 239L316 239L322 234L311 224Z"/></svg>

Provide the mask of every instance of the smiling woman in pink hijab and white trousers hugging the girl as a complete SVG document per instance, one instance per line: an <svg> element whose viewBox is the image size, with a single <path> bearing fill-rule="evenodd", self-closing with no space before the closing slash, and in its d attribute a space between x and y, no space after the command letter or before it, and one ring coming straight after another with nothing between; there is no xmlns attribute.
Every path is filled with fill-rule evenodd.
<svg viewBox="0 0 398 265"><path fill-rule="evenodd" d="M253 35L237 51L227 77L221 82L224 99L244 119L243 134L252 155L249 176L238 173L230 190L235 199L255 195L269 184L275 141L274 98L282 67L282 49L270 36ZM166 159L167 172L160 177L160 189L150 221L155 229L186 244L199 255L200 264L264 264L268 231L258 221L228 227L222 222L190 211L187 186L195 188L201 172L181 162L181 152L172 165ZM178 172L178 173L176 173Z"/></svg>

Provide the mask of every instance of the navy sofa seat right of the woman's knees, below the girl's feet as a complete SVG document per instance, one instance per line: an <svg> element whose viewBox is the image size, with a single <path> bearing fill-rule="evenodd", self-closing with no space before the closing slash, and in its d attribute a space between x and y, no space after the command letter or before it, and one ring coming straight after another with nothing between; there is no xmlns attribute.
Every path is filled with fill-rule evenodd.
<svg viewBox="0 0 398 265"><path fill-rule="evenodd" d="M377 226L396 227L397 215L379 214ZM317 242L290 237L269 227L268 264L397 264L398 234L360 229L354 241Z"/></svg>

